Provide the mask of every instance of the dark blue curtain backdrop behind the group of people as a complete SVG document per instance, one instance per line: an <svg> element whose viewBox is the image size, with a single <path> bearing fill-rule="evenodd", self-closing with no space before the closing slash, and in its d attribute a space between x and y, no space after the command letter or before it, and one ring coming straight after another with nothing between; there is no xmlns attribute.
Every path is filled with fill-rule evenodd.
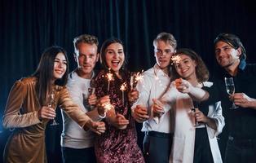
<svg viewBox="0 0 256 163"><path fill-rule="evenodd" d="M255 63L255 9L249 0L0 0L0 117L12 84L33 73L47 46L63 46L75 68L73 37L82 33L94 34L100 43L121 38L133 71L155 63L152 40L161 32L198 52L210 73L217 68L218 33L241 37L248 62ZM10 133L0 130L1 154Z"/></svg>

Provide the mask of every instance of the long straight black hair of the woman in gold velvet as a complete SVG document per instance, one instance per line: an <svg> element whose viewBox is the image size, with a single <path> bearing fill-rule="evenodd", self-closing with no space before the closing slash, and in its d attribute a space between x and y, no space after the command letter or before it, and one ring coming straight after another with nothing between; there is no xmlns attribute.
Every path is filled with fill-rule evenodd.
<svg viewBox="0 0 256 163"><path fill-rule="evenodd" d="M50 92L51 90L51 79L53 78L55 57L59 53L64 54L67 60L67 69L62 78L55 80L55 85L65 86L68 81L68 57L66 51L64 51L64 49L60 46L51 46L46 48L46 50L42 53L37 70L32 75L38 79L36 91L38 94L39 103L41 105L45 105L47 92Z"/></svg>

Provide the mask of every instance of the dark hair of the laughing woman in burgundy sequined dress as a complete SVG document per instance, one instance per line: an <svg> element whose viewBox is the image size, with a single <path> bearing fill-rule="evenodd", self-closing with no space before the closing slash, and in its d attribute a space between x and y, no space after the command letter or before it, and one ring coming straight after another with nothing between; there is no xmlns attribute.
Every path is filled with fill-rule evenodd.
<svg viewBox="0 0 256 163"><path fill-rule="evenodd" d="M125 61L124 63L121 65L121 69L120 72L122 72L123 70L126 70L126 64L127 64L127 60L126 60L126 53L125 53L125 47L124 44L121 42L120 39L118 38L109 38L108 40L106 40L101 48L100 48L100 64L102 64L102 66L104 67L104 69L108 69L108 65L106 62L106 50L108 48L109 45L113 44L113 43L120 43L123 50L124 50L124 55L125 55Z"/></svg>

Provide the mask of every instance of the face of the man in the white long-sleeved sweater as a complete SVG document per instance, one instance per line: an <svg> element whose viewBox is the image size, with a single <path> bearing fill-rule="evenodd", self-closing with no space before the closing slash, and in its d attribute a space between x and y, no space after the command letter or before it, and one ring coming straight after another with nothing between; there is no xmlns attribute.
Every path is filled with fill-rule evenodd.
<svg viewBox="0 0 256 163"><path fill-rule="evenodd" d="M78 65L78 75L83 78L90 78L99 59L97 46L95 44L79 43L77 51L75 51L75 59Z"/></svg>

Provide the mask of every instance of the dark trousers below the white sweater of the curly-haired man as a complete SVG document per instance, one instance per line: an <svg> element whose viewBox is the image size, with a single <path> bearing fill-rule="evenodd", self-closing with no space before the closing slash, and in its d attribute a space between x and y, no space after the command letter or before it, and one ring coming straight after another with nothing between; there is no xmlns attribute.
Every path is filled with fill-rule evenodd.
<svg viewBox="0 0 256 163"><path fill-rule="evenodd" d="M61 148L63 163L96 163L95 148Z"/></svg>

